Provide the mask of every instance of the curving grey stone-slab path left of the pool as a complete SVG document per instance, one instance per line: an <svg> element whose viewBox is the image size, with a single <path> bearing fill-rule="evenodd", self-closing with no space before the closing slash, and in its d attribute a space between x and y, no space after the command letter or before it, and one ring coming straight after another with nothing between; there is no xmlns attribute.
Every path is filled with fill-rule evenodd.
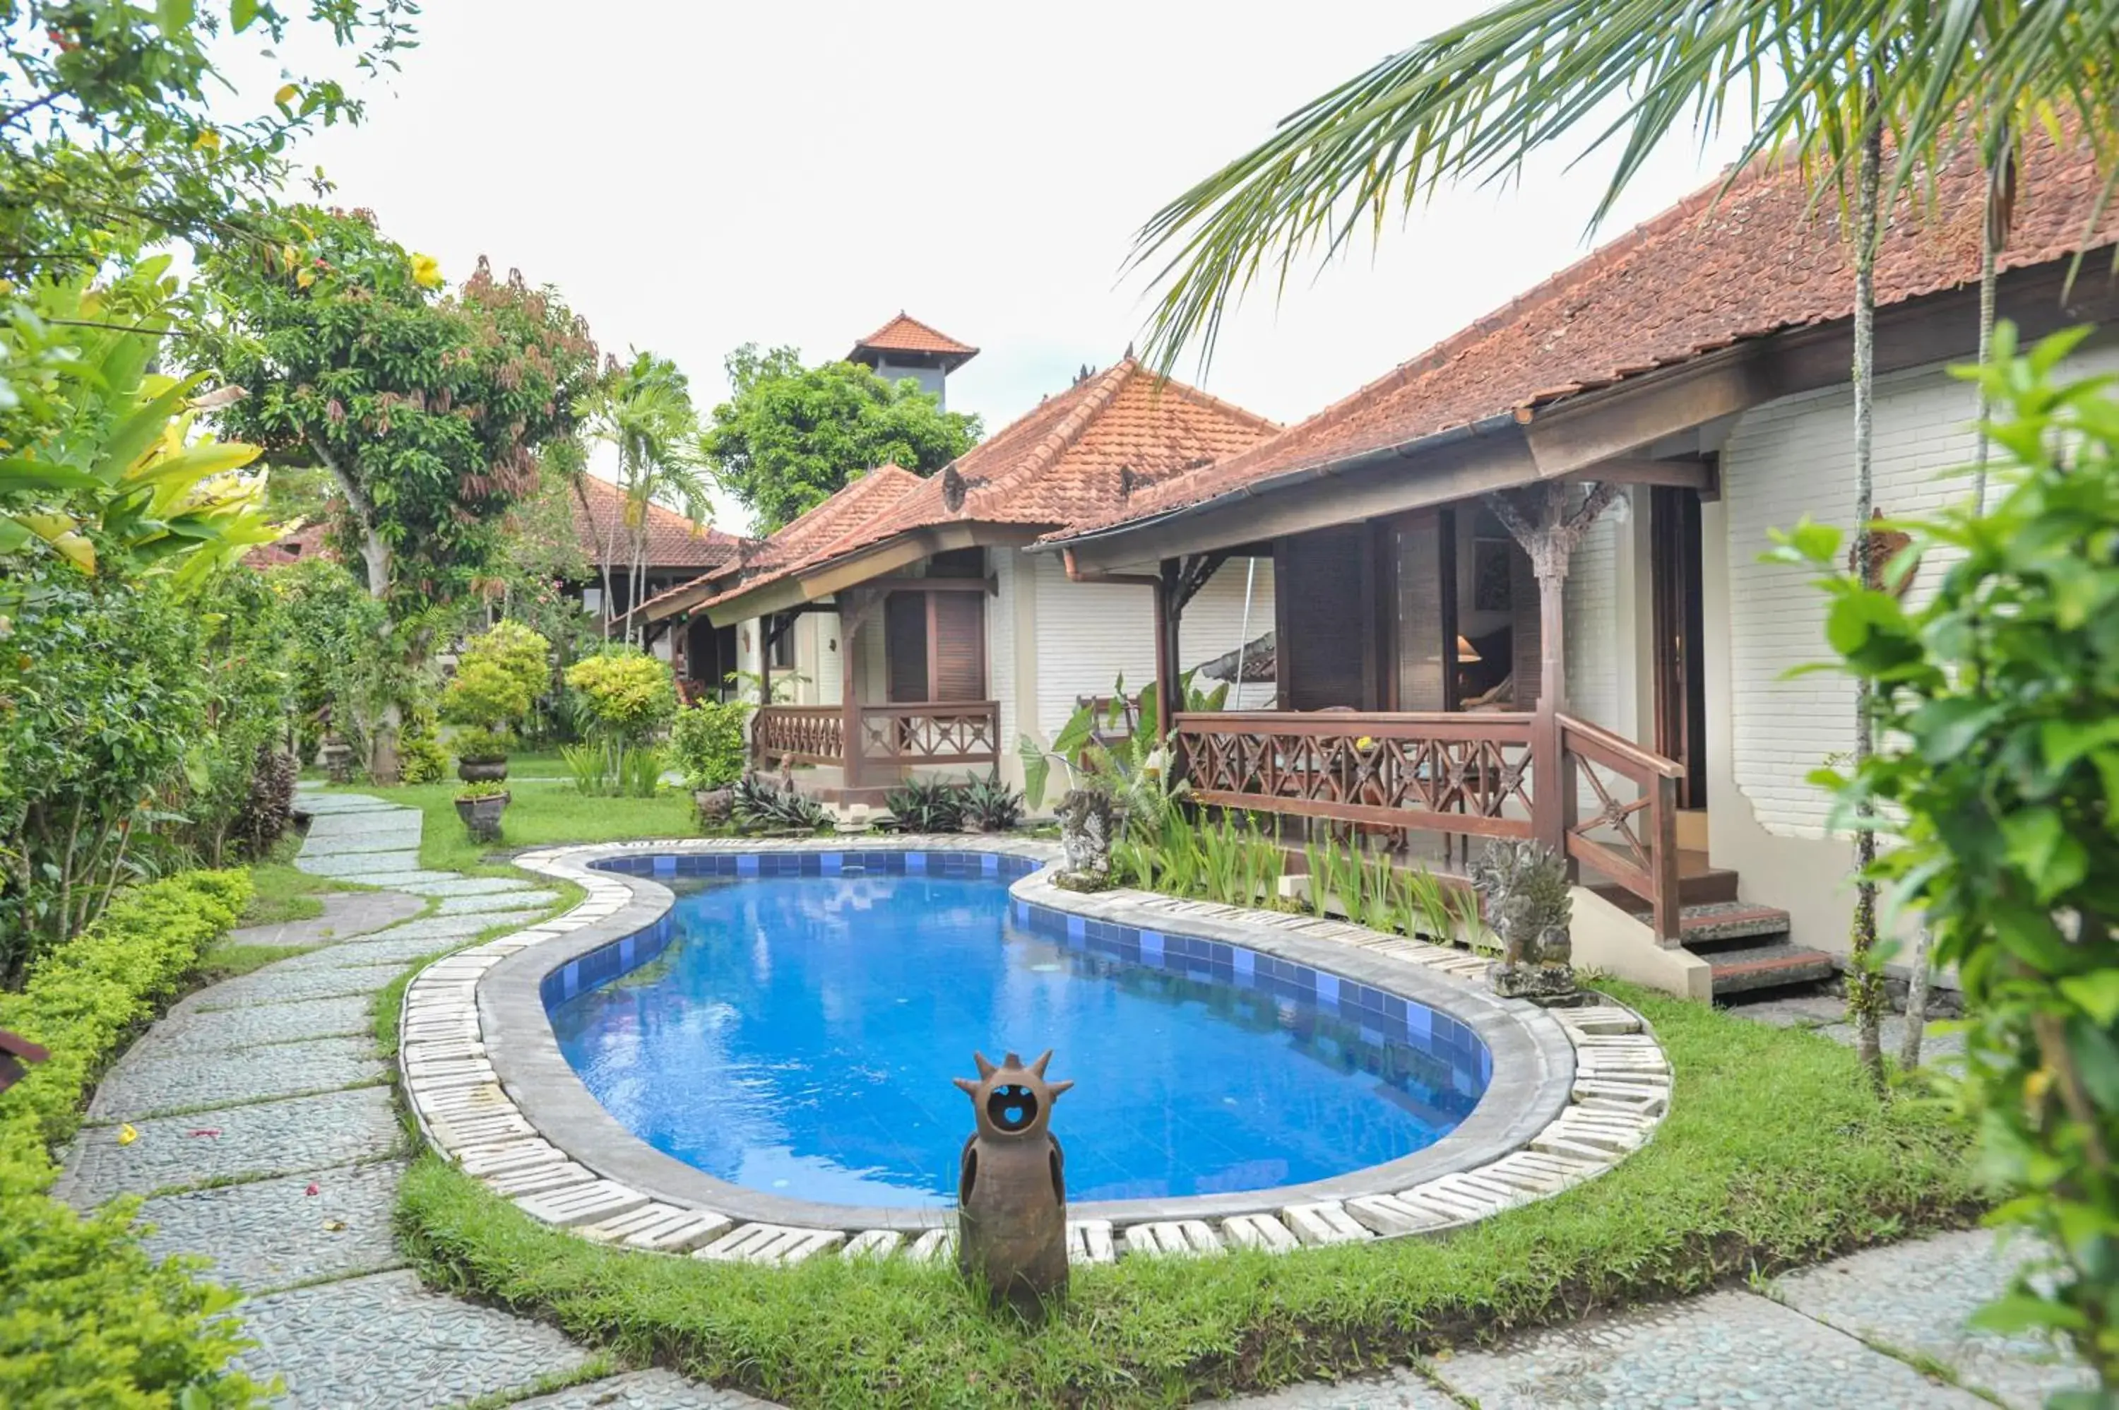
<svg viewBox="0 0 2119 1410"><path fill-rule="evenodd" d="M559 1332L422 1289L405 1268L390 1219L411 1149L375 1052L375 994L557 893L420 867L415 808L301 797L311 825L295 865L384 891L237 933L316 948L186 997L133 1043L95 1092L59 1196L150 1196L148 1249L203 1255L208 1276L248 1293L239 1315L259 1344L244 1370L280 1376L286 1406L761 1406L661 1370L615 1374Z"/></svg>

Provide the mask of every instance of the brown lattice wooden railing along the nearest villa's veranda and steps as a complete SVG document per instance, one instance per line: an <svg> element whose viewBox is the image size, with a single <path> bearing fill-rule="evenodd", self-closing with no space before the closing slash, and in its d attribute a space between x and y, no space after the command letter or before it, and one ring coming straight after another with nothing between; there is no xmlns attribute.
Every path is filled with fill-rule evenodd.
<svg viewBox="0 0 2119 1410"><path fill-rule="evenodd" d="M1678 939L1680 765L1568 715L1223 710L1176 717L1178 768L1212 808L1471 838L1536 838L1649 903ZM1543 791L1538 759L1551 759ZM1583 816L1579 793L1593 799Z"/></svg>

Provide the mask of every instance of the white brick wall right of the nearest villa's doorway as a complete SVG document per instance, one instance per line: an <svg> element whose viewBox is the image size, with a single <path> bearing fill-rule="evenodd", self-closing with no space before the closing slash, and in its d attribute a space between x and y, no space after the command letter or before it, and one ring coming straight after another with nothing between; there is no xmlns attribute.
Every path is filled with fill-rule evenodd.
<svg viewBox="0 0 2119 1410"><path fill-rule="evenodd" d="M2119 369L2119 348L2079 352L2072 375ZM1875 505L1926 513L1966 492L1943 471L1971 462L1973 388L1941 365L1877 380ZM1841 530L1854 519L1854 394L1827 388L1746 411L1721 460L1729 515L1729 698L1738 789L1759 823L1784 838L1822 838L1829 799L1805 782L1854 748L1854 685L1833 674L1786 678L1824 659L1824 596L1810 572L1763 564L1769 528L1805 513ZM1924 564L1933 579L1937 564ZM1913 583L1913 594L1922 583ZM1710 621L1708 632L1719 623Z"/></svg>

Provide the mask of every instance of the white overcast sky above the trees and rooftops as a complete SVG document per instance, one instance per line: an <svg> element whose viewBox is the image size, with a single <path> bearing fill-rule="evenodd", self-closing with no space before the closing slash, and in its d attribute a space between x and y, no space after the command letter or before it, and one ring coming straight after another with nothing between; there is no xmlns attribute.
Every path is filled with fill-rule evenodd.
<svg viewBox="0 0 2119 1410"><path fill-rule="evenodd" d="M451 282L483 252L557 284L606 350L674 356L701 411L737 343L843 356L903 307L981 348L949 405L992 433L1136 337L1121 265L1165 199L1475 8L430 0L405 72L362 85L369 121L295 155ZM233 72L259 102L278 85ZM1608 163L1568 174L1577 151L1524 189L1445 191L1278 307L1254 295L1208 390L1299 420L1579 259ZM1600 240L1714 170L1666 148Z"/></svg>

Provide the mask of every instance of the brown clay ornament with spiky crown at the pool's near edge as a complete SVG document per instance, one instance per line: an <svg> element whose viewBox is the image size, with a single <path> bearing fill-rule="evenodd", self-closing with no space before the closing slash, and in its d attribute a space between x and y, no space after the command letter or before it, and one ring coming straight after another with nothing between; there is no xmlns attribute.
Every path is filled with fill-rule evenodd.
<svg viewBox="0 0 2119 1410"><path fill-rule="evenodd" d="M956 1266L990 1302L1034 1319L1066 1296L1066 1158L1051 1111L1074 1083L1045 1081L1049 1047L1030 1067L1013 1052L1000 1067L971 1058L979 1079L956 1079L977 1120L958 1158Z"/></svg>

